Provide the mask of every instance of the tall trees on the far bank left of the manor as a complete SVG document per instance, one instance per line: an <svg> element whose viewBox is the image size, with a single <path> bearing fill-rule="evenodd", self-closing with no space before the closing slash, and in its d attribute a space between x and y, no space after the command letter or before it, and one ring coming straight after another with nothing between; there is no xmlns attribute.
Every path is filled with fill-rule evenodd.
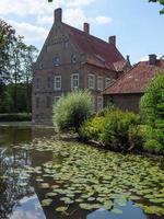
<svg viewBox="0 0 164 219"><path fill-rule="evenodd" d="M0 113L31 112L32 65L37 49L0 20Z"/></svg>

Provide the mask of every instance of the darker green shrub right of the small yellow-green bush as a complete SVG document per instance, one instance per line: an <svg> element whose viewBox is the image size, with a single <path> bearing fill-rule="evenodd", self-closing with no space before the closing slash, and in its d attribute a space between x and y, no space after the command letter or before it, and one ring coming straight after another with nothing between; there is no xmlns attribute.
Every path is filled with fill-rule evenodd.
<svg viewBox="0 0 164 219"><path fill-rule="evenodd" d="M124 113L119 110L107 113L103 123L102 142L115 150L128 150L129 130L138 123L139 116L133 113Z"/></svg>

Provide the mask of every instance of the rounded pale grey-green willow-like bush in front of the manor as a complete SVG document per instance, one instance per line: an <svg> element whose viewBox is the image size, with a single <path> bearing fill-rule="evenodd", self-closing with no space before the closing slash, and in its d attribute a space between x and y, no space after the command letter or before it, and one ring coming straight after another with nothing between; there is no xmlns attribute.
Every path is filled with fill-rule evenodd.
<svg viewBox="0 0 164 219"><path fill-rule="evenodd" d="M58 131L73 130L79 132L81 124L92 113L91 94L89 91L73 91L61 96L54 106L54 126Z"/></svg>

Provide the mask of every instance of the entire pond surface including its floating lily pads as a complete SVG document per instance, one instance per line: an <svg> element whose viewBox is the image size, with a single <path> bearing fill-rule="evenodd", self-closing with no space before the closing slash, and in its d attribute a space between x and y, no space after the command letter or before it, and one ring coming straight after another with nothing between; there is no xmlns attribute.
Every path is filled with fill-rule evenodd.
<svg viewBox="0 0 164 219"><path fill-rule="evenodd" d="M163 164L144 159L56 140L50 128L0 126L0 219L164 219Z"/></svg>

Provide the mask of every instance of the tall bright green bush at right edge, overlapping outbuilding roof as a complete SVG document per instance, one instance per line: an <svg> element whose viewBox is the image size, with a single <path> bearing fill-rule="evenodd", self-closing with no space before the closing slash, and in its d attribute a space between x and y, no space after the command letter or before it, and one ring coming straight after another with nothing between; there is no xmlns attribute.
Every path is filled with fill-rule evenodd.
<svg viewBox="0 0 164 219"><path fill-rule="evenodd" d="M144 149L164 152L164 73L161 72L149 84L140 102L140 113L147 125Z"/></svg>

